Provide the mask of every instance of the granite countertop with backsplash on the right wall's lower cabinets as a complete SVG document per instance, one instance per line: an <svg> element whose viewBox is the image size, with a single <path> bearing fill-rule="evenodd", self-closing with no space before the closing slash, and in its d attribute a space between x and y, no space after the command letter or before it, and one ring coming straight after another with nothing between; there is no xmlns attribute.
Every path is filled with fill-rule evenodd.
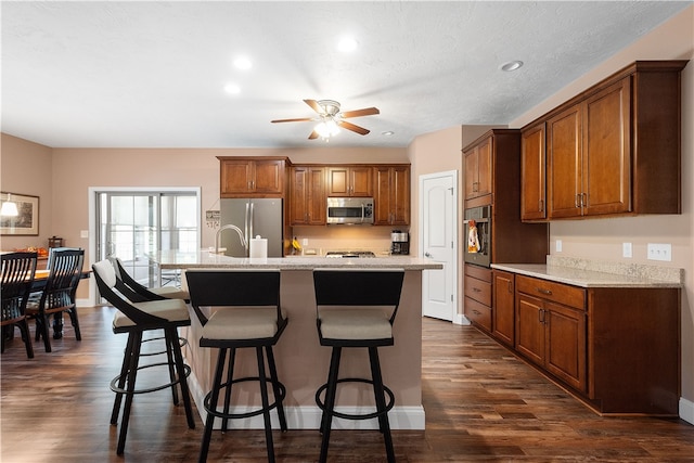
<svg viewBox="0 0 694 463"><path fill-rule="evenodd" d="M547 263L492 263L492 269L581 287L683 287L684 270L548 256Z"/></svg>

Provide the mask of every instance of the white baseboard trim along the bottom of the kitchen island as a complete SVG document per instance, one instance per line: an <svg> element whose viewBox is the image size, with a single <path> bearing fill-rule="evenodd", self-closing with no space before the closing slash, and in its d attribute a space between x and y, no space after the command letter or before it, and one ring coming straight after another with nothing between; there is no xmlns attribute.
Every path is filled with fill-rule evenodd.
<svg viewBox="0 0 694 463"><path fill-rule="evenodd" d="M200 382L195 377L194 373L188 378L188 386L191 390L191 396L195 401L195 406L200 412L203 423L207 417L205 408L203 407L203 400L207 395L207 391L203 391L200 387ZM338 407L336 409L343 413L370 413L372 408L363 407ZM244 413L250 411L247 407L232 407L232 413ZM284 414L286 415L286 423L290 429L318 429L321 423L321 410L318 406L303 406L303 407L285 407ZM271 414L272 427L279 429L280 422L278 415L273 411ZM388 412L388 421L391 429L409 429L409 430L424 430L425 413L424 407L394 407ZM377 429L378 422L373 420L333 420L333 429ZM221 428L221 419L215 420L215 429ZM252 416L244 420L230 420L230 429L264 429L265 423L262 415Z"/></svg>

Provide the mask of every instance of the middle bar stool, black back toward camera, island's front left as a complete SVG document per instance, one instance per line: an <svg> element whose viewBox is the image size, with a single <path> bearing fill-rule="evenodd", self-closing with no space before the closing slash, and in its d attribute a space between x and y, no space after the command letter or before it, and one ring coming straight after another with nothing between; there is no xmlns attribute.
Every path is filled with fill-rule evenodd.
<svg viewBox="0 0 694 463"><path fill-rule="evenodd" d="M201 347L217 347L217 366L211 390L205 396L207 412L205 433L200 450L200 462L207 461L209 441L215 417L220 417L222 432L229 420L245 419L262 414L268 461L274 462L270 410L277 409L280 428L287 430L282 401L286 389L278 380L272 346L274 346L287 324L287 318L280 305L279 270L196 270L185 272L191 306L203 325ZM217 309L211 316L209 309ZM206 313L205 313L206 312ZM258 362L258 376L233 377L236 349L254 348ZM265 349L265 356L264 356ZM222 380L227 352L229 362L227 378ZM270 375L266 373L266 359ZM252 411L234 413L230 411L231 388L234 384L258 382L262 406ZM268 383L274 396L270 403ZM219 395L224 390L222 410L219 410Z"/></svg>

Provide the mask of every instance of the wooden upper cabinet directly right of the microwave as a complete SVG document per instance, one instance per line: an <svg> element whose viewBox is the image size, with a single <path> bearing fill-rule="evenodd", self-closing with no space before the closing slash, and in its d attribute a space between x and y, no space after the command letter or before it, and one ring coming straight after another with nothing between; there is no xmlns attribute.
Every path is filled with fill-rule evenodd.
<svg viewBox="0 0 694 463"><path fill-rule="evenodd" d="M410 166L375 166L374 177L374 224L409 224Z"/></svg>

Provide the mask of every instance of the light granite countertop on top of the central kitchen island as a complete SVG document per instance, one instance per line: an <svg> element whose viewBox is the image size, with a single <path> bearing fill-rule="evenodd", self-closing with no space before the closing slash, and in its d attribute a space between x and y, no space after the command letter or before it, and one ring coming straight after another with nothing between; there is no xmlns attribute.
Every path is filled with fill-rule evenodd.
<svg viewBox="0 0 694 463"><path fill-rule="evenodd" d="M258 268L280 270L311 270L317 268L377 268L404 270L442 269L440 262L416 257L362 257L362 258L329 258L329 257L229 257L210 253L207 249L196 252L162 250L153 253L150 258L162 269L194 269L194 268Z"/></svg>

